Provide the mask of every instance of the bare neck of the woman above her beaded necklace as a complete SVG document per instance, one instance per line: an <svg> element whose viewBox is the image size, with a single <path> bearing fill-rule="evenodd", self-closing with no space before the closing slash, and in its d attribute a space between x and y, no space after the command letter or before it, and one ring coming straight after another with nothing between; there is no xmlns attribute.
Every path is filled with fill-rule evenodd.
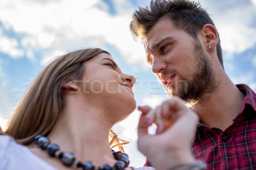
<svg viewBox="0 0 256 170"><path fill-rule="evenodd" d="M102 122L101 114L104 111L93 108L87 111L81 108L64 108L48 137L63 152L74 153L80 161L94 161L99 166L115 163L108 141L112 125Z"/></svg>

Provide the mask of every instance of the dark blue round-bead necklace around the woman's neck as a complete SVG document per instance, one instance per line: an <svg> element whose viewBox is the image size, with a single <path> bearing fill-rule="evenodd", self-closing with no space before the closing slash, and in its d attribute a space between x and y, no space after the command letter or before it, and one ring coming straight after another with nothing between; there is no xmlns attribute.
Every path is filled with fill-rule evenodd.
<svg viewBox="0 0 256 170"><path fill-rule="evenodd" d="M124 170L125 167L128 167L129 165L128 155L121 151L115 152L112 150L113 156L118 161L114 166L106 164L102 167L97 167L91 161L81 163L81 161L76 159L76 156L73 153L61 152L57 144L51 144L50 140L43 135L35 136L35 143L42 149L46 149L50 156L55 156L61 159L66 166L74 165L78 168L83 168L83 170Z"/></svg>

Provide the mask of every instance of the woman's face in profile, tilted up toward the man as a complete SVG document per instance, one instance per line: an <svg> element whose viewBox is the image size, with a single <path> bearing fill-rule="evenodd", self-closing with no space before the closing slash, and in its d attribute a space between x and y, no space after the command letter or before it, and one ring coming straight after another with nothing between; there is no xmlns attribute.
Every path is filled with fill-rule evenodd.
<svg viewBox="0 0 256 170"><path fill-rule="evenodd" d="M79 83L84 96L112 109L134 111L136 102L132 87L136 79L122 73L110 55L100 53L85 62L84 68L83 83Z"/></svg>

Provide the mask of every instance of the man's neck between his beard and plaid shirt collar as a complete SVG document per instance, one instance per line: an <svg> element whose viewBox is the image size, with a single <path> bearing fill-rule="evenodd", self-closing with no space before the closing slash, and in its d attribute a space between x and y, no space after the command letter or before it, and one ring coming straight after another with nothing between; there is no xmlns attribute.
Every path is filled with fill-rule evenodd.
<svg viewBox="0 0 256 170"><path fill-rule="evenodd" d="M198 113L200 122L208 127L225 130L233 124L244 101L244 94L226 76L221 79L218 90L206 94L192 109Z"/></svg>

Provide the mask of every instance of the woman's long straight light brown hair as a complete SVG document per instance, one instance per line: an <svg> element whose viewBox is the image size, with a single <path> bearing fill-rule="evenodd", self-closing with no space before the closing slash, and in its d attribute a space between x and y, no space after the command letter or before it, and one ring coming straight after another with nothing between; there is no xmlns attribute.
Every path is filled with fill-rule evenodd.
<svg viewBox="0 0 256 170"><path fill-rule="evenodd" d="M47 136L55 125L64 105L62 84L81 79L84 62L107 51L86 48L64 54L50 62L25 91L7 125L6 134L24 145L34 142L35 136ZM109 54L110 55L110 54ZM116 136L113 129L109 134L110 144L127 143Z"/></svg>

